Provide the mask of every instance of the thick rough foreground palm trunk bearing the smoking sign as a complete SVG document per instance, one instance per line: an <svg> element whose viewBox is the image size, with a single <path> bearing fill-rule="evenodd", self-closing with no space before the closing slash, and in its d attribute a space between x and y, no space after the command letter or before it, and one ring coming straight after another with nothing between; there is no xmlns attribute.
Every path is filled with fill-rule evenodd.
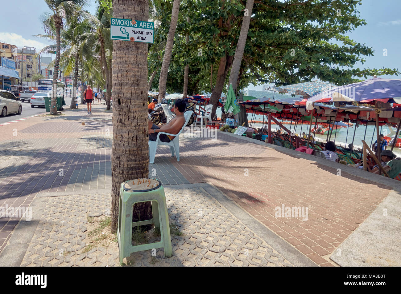
<svg viewBox="0 0 401 294"><path fill-rule="evenodd" d="M115 18L148 20L148 0L113 0ZM129 52L129 54L127 54ZM111 173L111 230L118 222L120 185L127 180L148 178L148 44L113 41L113 147ZM135 69L135 70L133 70ZM150 202L134 205L136 219L152 218ZM124 216L125 217L125 216Z"/></svg>

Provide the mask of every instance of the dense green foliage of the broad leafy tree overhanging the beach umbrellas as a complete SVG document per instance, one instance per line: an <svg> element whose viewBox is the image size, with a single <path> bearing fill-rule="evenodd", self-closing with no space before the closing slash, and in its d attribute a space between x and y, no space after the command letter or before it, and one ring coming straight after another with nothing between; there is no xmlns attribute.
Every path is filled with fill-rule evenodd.
<svg viewBox="0 0 401 294"><path fill-rule="evenodd" d="M184 14L178 19L175 45L179 43L180 47L173 48L167 82L170 87L182 84L184 66L188 63L190 78L192 72L192 79L198 81L192 84L198 87L195 90L188 84L189 93L212 90L211 101L217 105L221 90L227 86L245 3L188 0L182 4L180 10L190 11L191 22L186 22ZM360 3L360 0L255 1L238 88L275 80L282 85L316 78L343 85L374 74L398 74L397 69L354 68L357 62L363 64L366 56L374 53L367 44L346 36L366 24L357 10ZM165 9L166 14L167 5ZM163 23L164 20L162 26ZM190 40L185 46L178 39L184 39L188 31ZM160 34L160 38L166 38L166 34Z"/></svg>

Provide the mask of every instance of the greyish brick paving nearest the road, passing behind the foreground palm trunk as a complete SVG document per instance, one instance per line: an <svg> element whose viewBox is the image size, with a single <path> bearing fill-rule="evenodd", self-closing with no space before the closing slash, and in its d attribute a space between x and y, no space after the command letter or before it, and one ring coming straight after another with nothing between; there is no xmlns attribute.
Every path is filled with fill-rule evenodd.
<svg viewBox="0 0 401 294"><path fill-rule="evenodd" d="M39 192L111 189L112 113L92 108L92 115L79 108L1 126L0 206L29 206ZM149 164L150 176L155 167L163 185L189 183L168 158ZM0 253L19 220L0 218Z"/></svg>

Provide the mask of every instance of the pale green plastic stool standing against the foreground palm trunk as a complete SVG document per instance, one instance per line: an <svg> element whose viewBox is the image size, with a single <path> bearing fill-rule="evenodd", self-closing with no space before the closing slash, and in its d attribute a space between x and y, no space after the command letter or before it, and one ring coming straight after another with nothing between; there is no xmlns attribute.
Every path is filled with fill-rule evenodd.
<svg viewBox="0 0 401 294"><path fill-rule="evenodd" d="M132 207L135 203L152 201L153 218L140 222L132 222ZM132 245L132 228L146 224L155 224L160 228L160 242ZM120 265L123 259L132 253L153 248L164 248L164 256L172 256L170 225L168 222L166 196L164 188L158 180L135 179L124 182L120 188L117 240Z"/></svg>

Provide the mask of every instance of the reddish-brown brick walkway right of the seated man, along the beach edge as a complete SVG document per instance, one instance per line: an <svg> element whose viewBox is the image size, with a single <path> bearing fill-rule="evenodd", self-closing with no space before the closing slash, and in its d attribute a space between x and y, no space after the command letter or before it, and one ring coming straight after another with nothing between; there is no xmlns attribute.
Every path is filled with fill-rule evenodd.
<svg viewBox="0 0 401 294"><path fill-rule="evenodd" d="M191 183L211 182L321 266L331 265L330 254L391 190L349 174L337 176L336 169L317 162L217 135L216 141L183 138L180 162L170 162ZM308 206L308 220L275 217L282 204Z"/></svg>

